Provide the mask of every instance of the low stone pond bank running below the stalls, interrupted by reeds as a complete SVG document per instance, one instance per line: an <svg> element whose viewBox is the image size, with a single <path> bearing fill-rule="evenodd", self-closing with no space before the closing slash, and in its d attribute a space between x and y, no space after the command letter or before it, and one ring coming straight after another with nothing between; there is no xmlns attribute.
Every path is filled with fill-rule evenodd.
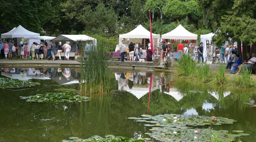
<svg viewBox="0 0 256 142"><path fill-rule="evenodd" d="M74 60L0 60L2 67L80 67L80 62ZM110 68L140 68L140 69L156 69L175 71L175 68L165 68L161 65L156 65L154 62L119 62L108 61Z"/></svg>

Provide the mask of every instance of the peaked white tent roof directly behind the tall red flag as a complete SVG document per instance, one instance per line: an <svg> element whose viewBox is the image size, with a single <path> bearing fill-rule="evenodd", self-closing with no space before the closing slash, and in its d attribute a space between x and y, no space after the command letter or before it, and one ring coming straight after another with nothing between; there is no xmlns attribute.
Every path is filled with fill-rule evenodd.
<svg viewBox="0 0 256 142"><path fill-rule="evenodd" d="M138 25L131 32L119 35L119 38L150 38L150 32L142 25ZM152 38L160 38L160 35L152 33Z"/></svg>

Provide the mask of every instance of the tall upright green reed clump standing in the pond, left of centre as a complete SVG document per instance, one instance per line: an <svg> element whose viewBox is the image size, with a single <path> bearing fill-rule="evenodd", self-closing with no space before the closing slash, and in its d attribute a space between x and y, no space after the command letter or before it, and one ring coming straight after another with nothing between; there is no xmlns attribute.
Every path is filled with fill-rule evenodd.
<svg viewBox="0 0 256 142"><path fill-rule="evenodd" d="M110 76L106 73L109 54L101 41L84 47L81 54L80 93L102 94L110 92Z"/></svg>

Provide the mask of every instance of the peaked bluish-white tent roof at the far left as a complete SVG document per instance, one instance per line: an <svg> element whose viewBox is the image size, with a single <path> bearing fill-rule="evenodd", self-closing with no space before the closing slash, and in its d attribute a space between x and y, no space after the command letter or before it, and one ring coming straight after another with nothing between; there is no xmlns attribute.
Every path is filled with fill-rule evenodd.
<svg viewBox="0 0 256 142"><path fill-rule="evenodd" d="M27 38L31 36L40 36L40 34L30 32L26 28L23 28L21 25L11 30L10 32L1 34L1 38Z"/></svg>

